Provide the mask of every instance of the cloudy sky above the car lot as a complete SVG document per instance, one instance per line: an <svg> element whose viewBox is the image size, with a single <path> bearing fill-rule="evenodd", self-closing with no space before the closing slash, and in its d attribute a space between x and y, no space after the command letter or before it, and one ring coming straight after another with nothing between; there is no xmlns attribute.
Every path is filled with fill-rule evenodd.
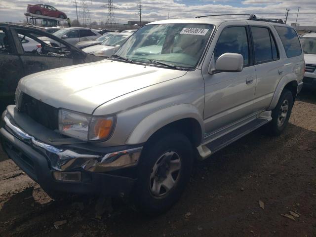
<svg viewBox="0 0 316 237"><path fill-rule="evenodd" d="M85 1L91 21L106 22L108 9L101 7L108 0L77 0L79 21L81 5ZM71 20L76 19L75 0L0 0L0 22L19 22L26 19L27 4L46 3L65 12ZM117 23L139 20L139 0L113 0ZM172 18L196 17L199 15L225 13L254 13L257 17L285 19L286 9L290 9L287 23L301 26L316 26L316 0L141 0L142 20L156 21Z"/></svg>

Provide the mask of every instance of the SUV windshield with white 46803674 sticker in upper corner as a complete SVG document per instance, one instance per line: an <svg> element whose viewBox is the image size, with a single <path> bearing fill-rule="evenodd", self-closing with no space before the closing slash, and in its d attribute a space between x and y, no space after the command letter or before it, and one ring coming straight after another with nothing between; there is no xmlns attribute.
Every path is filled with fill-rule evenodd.
<svg viewBox="0 0 316 237"><path fill-rule="evenodd" d="M147 25L118 49L119 56L133 62L152 60L182 68L195 68L214 26L208 24Z"/></svg>

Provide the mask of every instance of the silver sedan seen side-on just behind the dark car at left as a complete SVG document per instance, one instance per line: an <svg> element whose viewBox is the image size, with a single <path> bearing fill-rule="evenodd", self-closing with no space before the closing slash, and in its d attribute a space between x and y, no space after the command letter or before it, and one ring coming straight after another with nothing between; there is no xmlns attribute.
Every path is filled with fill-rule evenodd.
<svg viewBox="0 0 316 237"><path fill-rule="evenodd" d="M98 30L84 28L84 27L68 27L53 34L73 45L79 41L95 40L102 36Z"/></svg>

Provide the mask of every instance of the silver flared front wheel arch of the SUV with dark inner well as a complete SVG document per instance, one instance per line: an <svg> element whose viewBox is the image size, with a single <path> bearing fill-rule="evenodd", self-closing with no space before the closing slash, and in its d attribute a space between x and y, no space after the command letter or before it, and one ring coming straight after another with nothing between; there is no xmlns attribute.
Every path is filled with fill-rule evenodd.
<svg viewBox="0 0 316 237"><path fill-rule="evenodd" d="M191 104L171 106L144 118L131 132L126 144L140 144L165 129L183 132L197 147L202 141L204 124L202 115Z"/></svg>

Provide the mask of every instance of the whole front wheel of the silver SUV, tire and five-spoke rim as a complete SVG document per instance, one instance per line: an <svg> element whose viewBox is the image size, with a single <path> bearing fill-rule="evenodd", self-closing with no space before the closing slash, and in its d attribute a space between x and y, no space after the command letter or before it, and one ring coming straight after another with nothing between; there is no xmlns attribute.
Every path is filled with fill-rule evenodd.
<svg viewBox="0 0 316 237"><path fill-rule="evenodd" d="M178 132L163 133L145 146L134 190L137 208L157 215L168 210L181 196L190 179L193 149Z"/></svg>

